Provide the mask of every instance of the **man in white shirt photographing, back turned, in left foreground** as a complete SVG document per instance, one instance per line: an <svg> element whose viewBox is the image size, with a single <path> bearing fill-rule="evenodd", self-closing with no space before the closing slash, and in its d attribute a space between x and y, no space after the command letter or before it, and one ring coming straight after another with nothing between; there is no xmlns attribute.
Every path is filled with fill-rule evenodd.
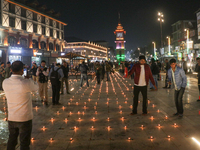
<svg viewBox="0 0 200 150"><path fill-rule="evenodd" d="M20 149L29 150L33 119L31 92L38 90L38 85L32 79L22 77L24 71L21 61L13 62L11 69L12 76L3 81L10 132L7 150L15 150L18 136Z"/></svg>

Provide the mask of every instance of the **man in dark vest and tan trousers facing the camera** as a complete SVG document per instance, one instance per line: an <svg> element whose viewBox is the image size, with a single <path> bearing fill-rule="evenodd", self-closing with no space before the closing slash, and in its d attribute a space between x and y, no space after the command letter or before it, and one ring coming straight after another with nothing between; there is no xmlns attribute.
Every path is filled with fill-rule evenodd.
<svg viewBox="0 0 200 150"><path fill-rule="evenodd" d="M42 60L41 66L38 67L36 75L39 77L38 84L39 84L39 94L41 101L48 105L48 75L49 70L46 67L46 61ZM45 95L45 98L44 98Z"/></svg>

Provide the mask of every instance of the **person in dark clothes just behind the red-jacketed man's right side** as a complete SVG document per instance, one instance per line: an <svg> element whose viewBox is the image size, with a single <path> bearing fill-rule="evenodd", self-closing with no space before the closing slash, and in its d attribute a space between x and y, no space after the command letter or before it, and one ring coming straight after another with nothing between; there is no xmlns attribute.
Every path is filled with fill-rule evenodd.
<svg viewBox="0 0 200 150"><path fill-rule="evenodd" d="M158 81L157 81L157 78L158 78L158 74L159 74L159 68L157 66L157 64L155 63L155 60L154 58L151 59L151 72L152 72L152 75L153 75L153 79L155 81L155 84L156 84L156 87L158 88ZM150 82L150 89L155 89L152 82Z"/></svg>

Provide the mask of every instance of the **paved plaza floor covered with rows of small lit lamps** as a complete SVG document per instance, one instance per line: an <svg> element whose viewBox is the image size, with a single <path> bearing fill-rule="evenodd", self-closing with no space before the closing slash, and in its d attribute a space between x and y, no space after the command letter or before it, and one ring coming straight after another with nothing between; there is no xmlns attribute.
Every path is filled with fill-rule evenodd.
<svg viewBox="0 0 200 150"><path fill-rule="evenodd" d="M111 81L96 84L90 80L79 87L80 79L70 80L70 93L61 95L62 105L49 106L33 97L33 131L31 150L198 150L200 146L200 103L197 79L188 75L183 97L184 116L176 112L174 90L162 89L164 78L158 81L158 91L148 88L148 115L142 115L142 96L138 114L130 116L133 104L133 80L111 75ZM6 100L0 99L0 150L6 149L8 129ZM17 148L19 150L19 146Z"/></svg>

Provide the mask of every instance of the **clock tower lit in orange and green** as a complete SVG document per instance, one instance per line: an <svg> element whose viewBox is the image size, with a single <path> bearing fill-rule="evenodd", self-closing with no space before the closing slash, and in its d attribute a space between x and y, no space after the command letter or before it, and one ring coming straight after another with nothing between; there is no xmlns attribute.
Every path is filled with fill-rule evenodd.
<svg viewBox="0 0 200 150"><path fill-rule="evenodd" d="M125 61L125 43L126 41L124 40L124 36L126 34L126 31L123 29L123 26L120 23L120 17L119 17L119 23L117 26L117 29L114 31L114 34L116 35L116 57L117 57L117 62L124 62Z"/></svg>

